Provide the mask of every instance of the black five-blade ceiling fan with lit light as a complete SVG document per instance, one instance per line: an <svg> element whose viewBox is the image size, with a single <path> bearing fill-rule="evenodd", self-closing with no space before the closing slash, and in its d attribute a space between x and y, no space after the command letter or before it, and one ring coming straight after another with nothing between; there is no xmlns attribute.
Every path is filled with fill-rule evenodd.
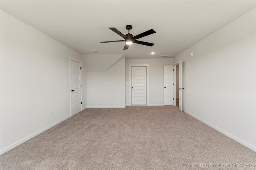
<svg viewBox="0 0 256 170"><path fill-rule="evenodd" d="M132 29L131 25L127 25L126 26L126 30L128 30L128 34L124 35L122 34L120 31L116 30L116 28L109 28L110 30L114 31L116 34L118 34L119 36L121 36L122 38L124 38L124 40L117 40L117 41L109 41L109 42L125 42L124 45L124 49L128 49L129 45L132 43L138 43L138 44L142 44L142 45L148 45L148 46L152 46L154 45L154 43L148 43L148 42L141 42L138 41L137 39L148 36L150 34L154 34L156 33L153 29L148 30L146 32L143 32L141 34L138 34L137 36L133 36L132 34L130 34L130 30ZM100 43L109 43L109 42L100 42Z"/></svg>

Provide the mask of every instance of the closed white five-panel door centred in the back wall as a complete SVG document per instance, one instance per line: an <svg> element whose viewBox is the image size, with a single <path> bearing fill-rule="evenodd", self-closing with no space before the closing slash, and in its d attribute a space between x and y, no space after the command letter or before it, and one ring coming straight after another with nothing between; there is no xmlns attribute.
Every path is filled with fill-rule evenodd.
<svg viewBox="0 0 256 170"><path fill-rule="evenodd" d="M147 105L147 67L132 67L132 105Z"/></svg>

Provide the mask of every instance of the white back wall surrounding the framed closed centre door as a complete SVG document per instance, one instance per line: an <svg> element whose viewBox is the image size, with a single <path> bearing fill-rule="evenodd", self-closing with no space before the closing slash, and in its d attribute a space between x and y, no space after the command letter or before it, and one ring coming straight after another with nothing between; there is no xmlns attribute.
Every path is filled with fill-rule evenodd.
<svg viewBox="0 0 256 170"><path fill-rule="evenodd" d="M126 105L130 105L129 64L149 65L149 104L164 105L164 65L172 65L172 58L125 59ZM157 100L159 97L159 100Z"/></svg>

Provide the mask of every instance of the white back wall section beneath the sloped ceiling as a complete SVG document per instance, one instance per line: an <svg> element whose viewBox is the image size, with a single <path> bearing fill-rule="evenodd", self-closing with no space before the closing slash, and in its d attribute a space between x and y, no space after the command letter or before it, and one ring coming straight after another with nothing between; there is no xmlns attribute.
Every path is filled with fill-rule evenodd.
<svg viewBox="0 0 256 170"><path fill-rule="evenodd" d="M125 107L124 77L124 57L112 65L107 71L88 71L88 107Z"/></svg>

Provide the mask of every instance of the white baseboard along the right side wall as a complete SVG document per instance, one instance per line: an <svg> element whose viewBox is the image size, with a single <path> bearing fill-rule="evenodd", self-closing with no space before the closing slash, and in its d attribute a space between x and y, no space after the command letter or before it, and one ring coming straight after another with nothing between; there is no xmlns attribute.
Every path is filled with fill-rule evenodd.
<svg viewBox="0 0 256 170"><path fill-rule="evenodd" d="M212 125L212 124L210 124L210 123L204 121L203 119L201 119L201 118L199 118L199 117L193 115L192 113L189 113L188 111L184 111L184 112L187 113L188 115L190 115L190 116L196 118L198 121L201 121L202 123L208 125L209 127L214 128L215 130L221 132L222 134L225 134L226 136L232 138L232 139L235 140L236 142L239 142L240 144L242 144L242 145L244 145L244 146L246 146L246 147L248 147L248 148L250 148L251 150L253 150L253 151L256 152L256 146L253 146L252 144L249 144L248 142L245 142L244 140L242 140L242 139L240 139L240 138L238 138L238 137L236 137L236 136L234 136L234 135L232 135L232 134L226 132L225 130L222 130L221 128L218 128L218 127L216 127L216 126L214 126L214 125Z"/></svg>

